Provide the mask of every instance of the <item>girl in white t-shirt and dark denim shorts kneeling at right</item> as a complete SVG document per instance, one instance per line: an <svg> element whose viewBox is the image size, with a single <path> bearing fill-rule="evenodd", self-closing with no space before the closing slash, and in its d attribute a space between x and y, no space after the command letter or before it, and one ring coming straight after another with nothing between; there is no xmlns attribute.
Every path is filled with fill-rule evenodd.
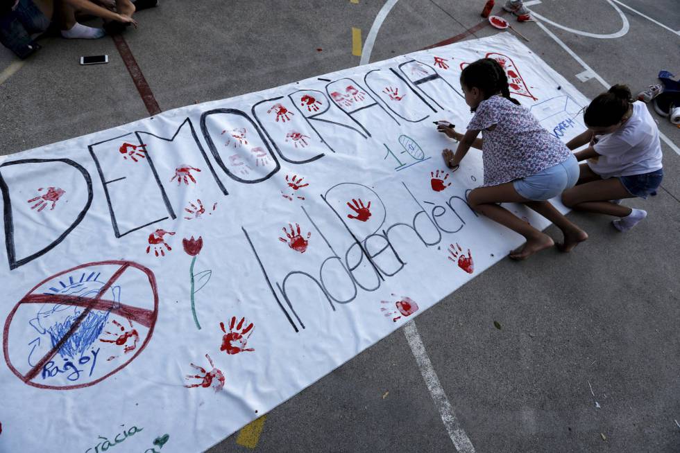
<svg viewBox="0 0 680 453"><path fill-rule="evenodd" d="M593 100L584 121L588 130L567 146L581 164L577 185L565 190L562 202L579 211L620 217L612 224L628 231L647 217L647 211L618 204L622 198L647 198L663 179L661 143L654 118L641 102L633 102L625 85L614 85Z"/></svg>

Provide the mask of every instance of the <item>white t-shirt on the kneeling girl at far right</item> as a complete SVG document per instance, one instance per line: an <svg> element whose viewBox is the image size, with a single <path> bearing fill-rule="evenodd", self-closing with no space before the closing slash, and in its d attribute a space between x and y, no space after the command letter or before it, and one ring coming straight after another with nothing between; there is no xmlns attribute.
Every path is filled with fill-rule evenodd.
<svg viewBox="0 0 680 453"><path fill-rule="evenodd" d="M662 168L658 127L645 103L633 104L633 115L624 125L593 145L600 154L588 166L603 178L643 175Z"/></svg>

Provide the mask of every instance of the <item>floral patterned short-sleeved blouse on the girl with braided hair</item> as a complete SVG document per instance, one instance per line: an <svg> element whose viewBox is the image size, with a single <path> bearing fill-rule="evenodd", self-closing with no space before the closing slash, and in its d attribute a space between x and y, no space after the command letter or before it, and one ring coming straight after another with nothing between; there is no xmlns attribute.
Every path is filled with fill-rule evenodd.
<svg viewBox="0 0 680 453"><path fill-rule="evenodd" d="M479 103L468 130L482 130L484 187L536 175L572 154L528 109L500 95Z"/></svg>

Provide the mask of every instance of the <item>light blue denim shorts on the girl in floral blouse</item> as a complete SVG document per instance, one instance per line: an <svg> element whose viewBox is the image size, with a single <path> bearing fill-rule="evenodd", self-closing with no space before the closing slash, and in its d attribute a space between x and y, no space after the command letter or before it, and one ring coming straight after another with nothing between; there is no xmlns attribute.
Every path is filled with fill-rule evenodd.
<svg viewBox="0 0 680 453"><path fill-rule="evenodd" d="M545 201L572 188L579 180L579 162L574 154L556 166L546 168L536 175L515 179L512 186L517 193L534 201Z"/></svg>

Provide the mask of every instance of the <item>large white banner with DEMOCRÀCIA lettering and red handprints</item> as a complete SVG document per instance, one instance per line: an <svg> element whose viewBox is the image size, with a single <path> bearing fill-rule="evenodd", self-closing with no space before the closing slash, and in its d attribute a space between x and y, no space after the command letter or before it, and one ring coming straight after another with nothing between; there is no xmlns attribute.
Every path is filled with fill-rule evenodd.
<svg viewBox="0 0 680 453"><path fill-rule="evenodd" d="M556 136L584 129L503 34L3 157L0 450L204 450L520 245L466 203L481 153L450 172L432 124L464 130L486 56Z"/></svg>

